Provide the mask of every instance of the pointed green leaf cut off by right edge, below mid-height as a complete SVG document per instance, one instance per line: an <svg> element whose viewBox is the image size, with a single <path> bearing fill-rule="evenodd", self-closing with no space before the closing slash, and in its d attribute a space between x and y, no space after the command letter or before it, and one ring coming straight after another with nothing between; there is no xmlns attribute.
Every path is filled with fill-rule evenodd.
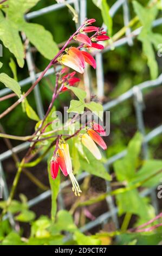
<svg viewBox="0 0 162 256"><path fill-rule="evenodd" d="M147 160L140 170L135 175L134 179L131 181L133 183L140 182L149 178L151 175L162 170L162 161L161 160ZM161 173L155 175L153 178L146 181L142 186L144 187L154 187L157 186L160 181L162 181L162 171Z"/></svg>

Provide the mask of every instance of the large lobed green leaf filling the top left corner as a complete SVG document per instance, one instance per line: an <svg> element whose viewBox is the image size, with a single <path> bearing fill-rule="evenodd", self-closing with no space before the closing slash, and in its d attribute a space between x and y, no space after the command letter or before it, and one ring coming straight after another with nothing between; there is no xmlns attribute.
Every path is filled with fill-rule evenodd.
<svg viewBox="0 0 162 256"><path fill-rule="evenodd" d="M0 17L0 38L5 47L8 47L10 52L15 55L21 67L24 65L24 51L19 35L20 31L25 32L30 42L45 58L51 60L59 51L49 31L41 25L24 20L24 13L37 2L38 0L9 0L9 8L5 10L7 17L4 18L3 15Z"/></svg>

